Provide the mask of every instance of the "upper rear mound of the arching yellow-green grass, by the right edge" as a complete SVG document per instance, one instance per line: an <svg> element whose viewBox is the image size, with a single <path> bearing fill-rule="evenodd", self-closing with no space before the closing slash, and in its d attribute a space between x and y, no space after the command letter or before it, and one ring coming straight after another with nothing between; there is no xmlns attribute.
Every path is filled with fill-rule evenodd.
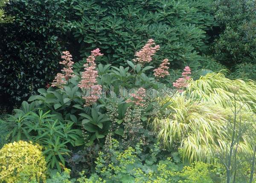
<svg viewBox="0 0 256 183"><path fill-rule="evenodd" d="M244 110L256 112L256 83L237 79L227 79L223 73L208 73L196 81L192 81L187 88L186 94L193 101L207 101L221 105L223 108L234 106L234 88L236 104Z"/></svg>

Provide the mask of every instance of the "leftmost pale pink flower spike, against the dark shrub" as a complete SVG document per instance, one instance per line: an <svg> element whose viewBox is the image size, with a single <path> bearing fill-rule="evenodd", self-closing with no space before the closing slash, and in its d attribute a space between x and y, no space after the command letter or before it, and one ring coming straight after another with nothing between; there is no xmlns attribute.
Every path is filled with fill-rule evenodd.
<svg viewBox="0 0 256 183"><path fill-rule="evenodd" d="M59 87L63 88L63 84L66 84L68 79L73 77L73 64L72 61L72 55L68 51L62 52L64 55L61 56L61 59L63 61L59 62L59 64L64 65L64 68L61 70L63 73L57 73L57 76L55 76L55 79L52 82L52 87Z"/></svg>

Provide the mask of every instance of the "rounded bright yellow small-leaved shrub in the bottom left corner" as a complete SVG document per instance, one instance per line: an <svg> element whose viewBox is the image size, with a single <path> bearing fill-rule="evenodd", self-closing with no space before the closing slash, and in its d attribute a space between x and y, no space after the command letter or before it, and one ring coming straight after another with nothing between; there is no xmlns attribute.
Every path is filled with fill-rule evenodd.
<svg viewBox="0 0 256 183"><path fill-rule="evenodd" d="M18 141L0 149L0 182L45 182L46 161L41 146Z"/></svg>

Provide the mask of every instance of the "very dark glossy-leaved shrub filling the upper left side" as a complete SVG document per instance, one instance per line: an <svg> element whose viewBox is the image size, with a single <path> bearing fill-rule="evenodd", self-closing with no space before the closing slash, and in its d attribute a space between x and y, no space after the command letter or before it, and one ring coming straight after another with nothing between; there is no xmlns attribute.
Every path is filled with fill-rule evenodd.
<svg viewBox="0 0 256 183"><path fill-rule="evenodd" d="M45 86L68 45L67 0L12 0L13 23L0 24L0 100L12 106ZM10 103L11 101L11 103Z"/></svg>

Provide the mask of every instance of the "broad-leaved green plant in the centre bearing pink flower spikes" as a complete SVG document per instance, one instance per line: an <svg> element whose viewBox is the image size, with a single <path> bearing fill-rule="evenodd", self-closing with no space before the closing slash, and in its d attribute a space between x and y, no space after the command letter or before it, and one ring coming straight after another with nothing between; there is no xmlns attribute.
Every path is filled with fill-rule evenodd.
<svg viewBox="0 0 256 183"><path fill-rule="evenodd" d="M54 120L58 119L65 123L72 121L70 129L82 131L81 135L84 135L84 139L78 138L72 141L72 146L68 146L71 148L79 145L91 146L95 142L103 145L106 137L111 139L117 135L123 138L124 135L142 134L146 131L143 129L145 121L154 108L152 102L147 99L146 89L150 88L155 93L157 89L164 88L164 84L158 79L169 74L168 59L164 59L155 70L148 65L154 62L154 55L159 49L160 46L156 45L153 39L149 39L145 46L135 53L134 62L127 61L128 67L117 68L102 64L97 67L96 59L103 55L97 48L87 57L83 72L77 68L73 69L72 55L65 51L61 56L62 61L59 62L64 68L55 77L52 87L47 90L39 89L40 95L31 96L29 101L33 101L34 109L50 111L54 114ZM151 75L147 74L153 70L156 78L153 72ZM110 92L111 86L119 85L128 88L127 96L122 96L116 88L111 91L112 93ZM100 95L105 94L102 86L106 86L109 93L106 97L100 98ZM135 89L135 92L131 94L130 89ZM115 100L117 114L108 115L113 113L109 105ZM138 107L143 110L137 109ZM131 113L136 116L128 118ZM137 142L137 139L131 139L130 144L134 145L133 142Z"/></svg>

